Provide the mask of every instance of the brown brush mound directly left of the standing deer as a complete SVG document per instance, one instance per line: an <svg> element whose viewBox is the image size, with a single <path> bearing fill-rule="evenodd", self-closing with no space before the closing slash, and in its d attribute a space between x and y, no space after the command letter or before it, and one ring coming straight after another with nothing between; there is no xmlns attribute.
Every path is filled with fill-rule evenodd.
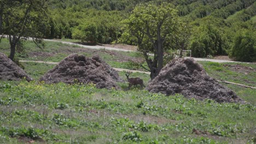
<svg viewBox="0 0 256 144"><path fill-rule="evenodd" d="M115 83L122 81L117 71L103 62L100 57L86 58L70 55L51 69L39 81L45 83L94 83L97 88L119 88Z"/></svg>

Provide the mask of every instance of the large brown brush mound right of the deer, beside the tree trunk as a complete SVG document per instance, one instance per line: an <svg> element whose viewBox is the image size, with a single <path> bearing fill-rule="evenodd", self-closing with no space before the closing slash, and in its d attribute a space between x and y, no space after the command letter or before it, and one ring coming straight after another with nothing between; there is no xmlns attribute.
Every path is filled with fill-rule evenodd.
<svg viewBox="0 0 256 144"><path fill-rule="evenodd" d="M160 74L148 84L149 92L172 95L181 93L184 97L199 100L213 99L219 103L242 102L231 89L220 85L208 76L194 59L177 58L167 64Z"/></svg>

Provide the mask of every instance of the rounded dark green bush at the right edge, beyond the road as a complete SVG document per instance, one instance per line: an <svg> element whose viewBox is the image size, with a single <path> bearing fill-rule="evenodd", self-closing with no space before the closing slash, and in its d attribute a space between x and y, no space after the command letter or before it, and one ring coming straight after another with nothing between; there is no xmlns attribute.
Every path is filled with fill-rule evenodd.
<svg viewBox="0 0 256 144"><path fill-rule="evenodd" d="M255 32L241 30L237 33L232 47L231 57L237 61L256 61L256 34Z"/></svg>

